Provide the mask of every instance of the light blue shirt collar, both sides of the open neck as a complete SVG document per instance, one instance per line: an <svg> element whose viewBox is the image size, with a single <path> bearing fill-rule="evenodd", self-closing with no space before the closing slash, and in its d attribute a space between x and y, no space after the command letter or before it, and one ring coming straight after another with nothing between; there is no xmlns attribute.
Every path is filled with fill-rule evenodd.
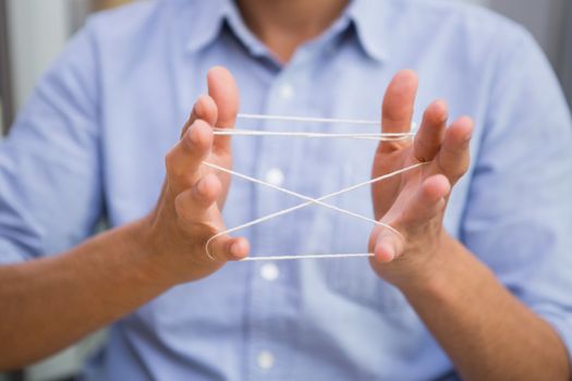
<svg viewBox="0 0 572 381"><path fill-rule="evenodd" d="M352 0L341 17L349 17L355 26L356 38L364 52L376 61L387 58L387 37L384 30L386 16L380 0ZM226 23L252 53L260 54L266 48L247 30L234 0L193 1L193 22L190 22L190 38L186 49L199 51L214 42Z"/></svg>

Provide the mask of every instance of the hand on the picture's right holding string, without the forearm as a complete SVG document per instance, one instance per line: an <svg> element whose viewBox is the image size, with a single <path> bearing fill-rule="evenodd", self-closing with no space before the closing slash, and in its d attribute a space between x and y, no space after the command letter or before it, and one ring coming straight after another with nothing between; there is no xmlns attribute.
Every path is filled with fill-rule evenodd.
<svg viewBox="0 0 572 381"><path fill-rule="evenodd" d="M384 133L409 132L417 77L402 71L390 83L382 106ZM377 220L403 235L381 226L372 233L369 247L374 270L400 285L423 281L437 266L436 253L445 239L443 212L451 186L466 172L473 122L461 118L447 128L448 111L442 100L425 111L415 140L381 142L377 148L373 176L418 162L426 165L374 184L372 196Z"/></svg>

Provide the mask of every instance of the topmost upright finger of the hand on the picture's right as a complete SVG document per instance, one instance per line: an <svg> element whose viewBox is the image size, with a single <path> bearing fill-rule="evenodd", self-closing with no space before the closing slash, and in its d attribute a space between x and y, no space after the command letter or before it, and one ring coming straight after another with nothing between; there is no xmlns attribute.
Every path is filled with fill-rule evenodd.
<svg viewBox="0 0 572 381"><path fill-rule="evenodd" d="M405 133L411 130L418 79L415 72L403 70L391 79L381 107L381 131ZM379 149L394 147L397 142L381 142Z"/></svg>

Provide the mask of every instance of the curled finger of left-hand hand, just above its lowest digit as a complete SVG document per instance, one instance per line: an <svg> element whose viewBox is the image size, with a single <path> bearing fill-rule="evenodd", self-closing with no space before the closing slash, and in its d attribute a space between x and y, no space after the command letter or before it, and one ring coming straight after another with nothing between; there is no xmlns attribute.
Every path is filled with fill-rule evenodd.
<svg viewBox="0 0 572 381"><path fill-rule="evenodd" d="M220 180L215 174L205 175L195 186L177 196L174 205L178 216L188 222L204 220L221 189Z"/></svg>

